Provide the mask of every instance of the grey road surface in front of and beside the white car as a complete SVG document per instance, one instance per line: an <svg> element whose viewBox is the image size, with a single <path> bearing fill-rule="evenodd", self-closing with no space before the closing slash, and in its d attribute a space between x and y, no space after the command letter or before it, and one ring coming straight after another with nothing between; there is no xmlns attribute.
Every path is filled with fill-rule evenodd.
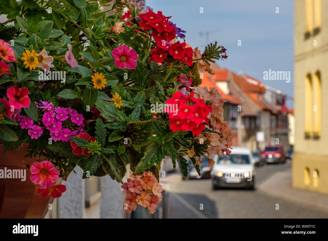
<svg viewBox="0 0 328 241"><path fill-rule="evenodd" d="M291 162L256 168L256 186ZM178 179L170 185L171 218L328 218L328 211L271 196L258 189L212 190L210 179ZM279 204L279 210L276 210Z"/></svg>

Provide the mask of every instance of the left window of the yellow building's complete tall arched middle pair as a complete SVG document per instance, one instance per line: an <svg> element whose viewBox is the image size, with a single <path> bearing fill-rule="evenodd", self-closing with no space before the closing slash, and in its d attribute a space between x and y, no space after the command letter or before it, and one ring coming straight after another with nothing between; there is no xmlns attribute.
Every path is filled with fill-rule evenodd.
<svg viewBox="0 0 328 241"><path fill-rule="evenodd" d="M311 75L308 74L305 78L305 132L306 135L312 135L312 117L313 117L313 97L312 97L312 80Z"/></svg>

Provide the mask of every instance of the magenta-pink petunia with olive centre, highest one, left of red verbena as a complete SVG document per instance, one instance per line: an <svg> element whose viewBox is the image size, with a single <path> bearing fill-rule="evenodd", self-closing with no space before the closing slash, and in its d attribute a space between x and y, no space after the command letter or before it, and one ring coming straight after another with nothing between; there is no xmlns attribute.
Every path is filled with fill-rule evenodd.
<svg viewBox="0 0 328 241"><path fill-rule="evenodd" d="M112 55L118 68L131 70L137 66L137 52L126 45L113 49Z"/></svg>

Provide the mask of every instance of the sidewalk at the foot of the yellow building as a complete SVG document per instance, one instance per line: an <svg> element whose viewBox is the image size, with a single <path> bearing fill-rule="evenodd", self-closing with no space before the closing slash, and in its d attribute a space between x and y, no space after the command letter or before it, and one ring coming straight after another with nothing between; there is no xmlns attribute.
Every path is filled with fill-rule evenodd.
<svg viewBox="0 0 328 241"><path fill-rule="evenodd" d="M256 188L289 201L328 210L328 194L293 188L291 170L275 173Z"/></svg>

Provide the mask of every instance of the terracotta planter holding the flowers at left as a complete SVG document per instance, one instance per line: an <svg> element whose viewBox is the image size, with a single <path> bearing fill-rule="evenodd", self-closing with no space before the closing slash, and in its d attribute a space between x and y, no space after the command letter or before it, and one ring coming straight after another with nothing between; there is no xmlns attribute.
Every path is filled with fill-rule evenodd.
<svg viewBox="0 0 328 241"><path fill-rule="evenodd" d="M41 197L37 193L39 185L31 182L30 169L23 167L24 163L30 166L37 158L24 158L28 146L23 146L20 151L7 151L0 145L0 169L26 169L26 180L18 178L0 178L0 218L44 218L48 212L48 204L54 200L51 196ZM43 160L41 158L41 160ZM59 178L56 184L60 184Z"/></svg>

